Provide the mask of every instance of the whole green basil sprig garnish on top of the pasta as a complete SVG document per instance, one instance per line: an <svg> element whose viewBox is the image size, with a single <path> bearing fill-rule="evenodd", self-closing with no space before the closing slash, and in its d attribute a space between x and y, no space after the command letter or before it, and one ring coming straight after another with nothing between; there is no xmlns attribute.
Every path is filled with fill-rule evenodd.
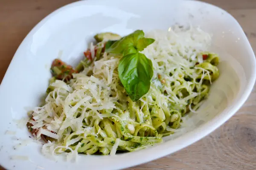
<svg viewBox="0 0 256 170"><path fill-rule="evenodd" d="M123 55L118 65L118 76L134 102L148 93L153 77L152 61L139 51L152 44L154 39L144 35L142 30L134 31L106 48L106 52Z"/></svg>

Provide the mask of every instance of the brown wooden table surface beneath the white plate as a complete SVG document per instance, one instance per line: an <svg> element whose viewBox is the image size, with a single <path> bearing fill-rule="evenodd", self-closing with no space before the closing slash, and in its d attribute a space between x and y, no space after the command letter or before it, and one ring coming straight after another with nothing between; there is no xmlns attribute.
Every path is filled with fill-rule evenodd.
<svg viewBox="0 0 256 170"><path fill-rule="evenodd" d="M75 0L0 0L0 79L20 42L47 14ZM256 0L204 0L227 10L256 51ZM204 139L128 170L255 170L256 90L243 107ZM1 167L0 167L1 169Z"/></svg>

